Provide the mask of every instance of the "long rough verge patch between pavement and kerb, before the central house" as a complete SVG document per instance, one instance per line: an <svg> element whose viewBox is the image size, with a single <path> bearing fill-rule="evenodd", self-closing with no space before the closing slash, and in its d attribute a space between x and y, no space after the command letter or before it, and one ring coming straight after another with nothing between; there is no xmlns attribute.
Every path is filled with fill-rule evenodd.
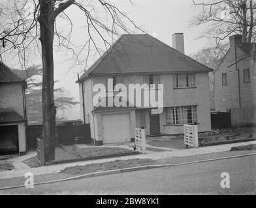
<svg viewBox="0 0 256 208"><path fill-rule="evenodd" d="M144 166L148 164L156 164L156 161L151 159L131 159L131 160L117 160L112 162L103 162L97 164L87 164L86 166L74 166L65 168L61 171L61 174L77 175L77 174L89 174L92 172L101 172L106 170L116 170L121 168L131 168L136 166Z"/></svg>

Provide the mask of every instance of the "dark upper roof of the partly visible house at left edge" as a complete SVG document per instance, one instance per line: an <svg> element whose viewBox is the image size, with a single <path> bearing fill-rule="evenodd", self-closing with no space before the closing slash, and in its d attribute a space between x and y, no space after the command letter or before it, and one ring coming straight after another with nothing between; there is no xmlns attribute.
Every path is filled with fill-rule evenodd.
<svg viewBox="0 0 256 208"><path fill-rule="evenodd" d="M0 83L24 83L8 66L0 61Z"/></svg>

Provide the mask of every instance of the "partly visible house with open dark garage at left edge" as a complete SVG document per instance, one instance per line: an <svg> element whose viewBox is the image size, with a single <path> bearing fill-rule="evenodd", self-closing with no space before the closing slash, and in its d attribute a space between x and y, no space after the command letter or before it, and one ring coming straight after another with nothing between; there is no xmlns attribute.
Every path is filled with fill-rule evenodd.
<svg viewBox="0 0 256 208"><path fill-rule="evenodd" d="M0 62L0 154L26 151L24 80Z"/></svg>

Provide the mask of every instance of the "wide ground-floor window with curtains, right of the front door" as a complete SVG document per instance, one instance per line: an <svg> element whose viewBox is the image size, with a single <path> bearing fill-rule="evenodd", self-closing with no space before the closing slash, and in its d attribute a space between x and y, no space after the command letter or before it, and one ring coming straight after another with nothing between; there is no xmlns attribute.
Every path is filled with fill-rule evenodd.
<svg viewBox="0 0 256 208"><path fill-rule="evenodd" d="M197 122L197 106L180 106L166 109L167 125Z"/></svg>

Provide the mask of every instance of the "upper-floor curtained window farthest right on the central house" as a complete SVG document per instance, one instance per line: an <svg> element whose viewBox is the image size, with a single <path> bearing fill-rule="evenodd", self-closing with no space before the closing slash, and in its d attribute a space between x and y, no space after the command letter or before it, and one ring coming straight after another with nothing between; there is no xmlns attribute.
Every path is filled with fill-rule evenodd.
<svg viewBox="0 0 256 208"><path fill-rule="evenodd" d="M176 73L174 75L174 88L195 87L195 73Z"/></svg>

